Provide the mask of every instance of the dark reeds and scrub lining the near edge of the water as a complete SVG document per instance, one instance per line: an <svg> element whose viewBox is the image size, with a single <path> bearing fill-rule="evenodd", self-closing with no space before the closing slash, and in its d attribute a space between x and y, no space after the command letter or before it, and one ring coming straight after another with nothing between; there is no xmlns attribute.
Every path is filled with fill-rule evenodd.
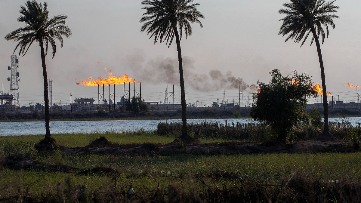
<svg viewBox="0 0 361 203"><path fill-rule="evenodd" d="M330 133L338 139L351 139L350 133L360 135L361 124L351 125L347 119L329 123ZM201 122L187 126L188 133L195 138L228 139L237 141L270 141L277 139L277 135L269 126L258 122ZM323 131L323 125L313 126L300 123L295 126L290 135L290 141L310 140L316 138ZM160 136L181 134L182 123L164 123L157 125L156 133Z"/></svg>

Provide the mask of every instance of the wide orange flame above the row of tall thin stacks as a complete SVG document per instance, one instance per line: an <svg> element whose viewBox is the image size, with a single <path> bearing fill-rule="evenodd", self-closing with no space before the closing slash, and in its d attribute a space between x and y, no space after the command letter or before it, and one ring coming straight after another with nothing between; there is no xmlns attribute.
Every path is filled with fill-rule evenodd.
<svg viewBox="0 0 361 203"><path fill-rule="evenodd" d="M104 68L105 70L106 68ZM82 80L80 82L75 82L77 85L84 85L84 86L97 86L97 85L121 85L123 83L140 83L139 81L130 78L127 74L124 74L121 77L113 76L113 73L109 72L109 78L101 78L98 77L97 80L93 80L92 77L88 78L89 81Z"/></svg>

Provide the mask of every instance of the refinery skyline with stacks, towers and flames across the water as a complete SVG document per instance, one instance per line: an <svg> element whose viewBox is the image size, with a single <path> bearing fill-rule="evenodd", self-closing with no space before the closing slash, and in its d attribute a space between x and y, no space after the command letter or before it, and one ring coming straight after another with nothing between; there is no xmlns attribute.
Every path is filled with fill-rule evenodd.
<svg viewBox="0 0 361 203"><path fill-rule="evenodd" d="M26 105L20 103L19 97L19 60L16 55L10 57L11 65L7 67L10 72L10 77L7 78L9 83L5 82L5 86L9 86L7 91L4 91L4 82L2 83L2 89L0 91L0 112L32 112L32 111L43 111L43 101L33 101ZM136 81L133 78L129 78L128 75L124 74L121 77L115 77L111 71L106 70L109 73L109 78L97 78L93 80L89 77L88 80L82 80L76 82L80 86L97 86L97 94L94 92L92 96L73 95L70 93L70 101L63 102L63 105L54 102L53 100L53 80L49 79L49 107L51 112L123 112L127 111L126 104L130 103L132 98L142 98L144 104L147 105L149 111L180 111L182 105L179 99L179 92L174 91L174 85L167 85L165 88L164 99L154 99L153 94L159 94L160 92L148 93L142 97L142 83ZM8 84L8 85L7 85ZM332 109L359 109L361 108L360 99L361 92L358 90L358 86L347 83L348 87L353 88L354 91L347 92L336 92L332 95L327 92L330 96L331 102L328 104L329 108ZM238 88L237 88L238 89ZM319 84L316 85L315 90L321 95L321 102L311 102L307 104L307 109L322 109L322 88ZM258 90L259 91L259 90ZM360 93L359 93L360 92ZM218 94L218 93L217 93ZM211 93L204 96L198 92L190 92L188 101L187 98L187 111L201 111L201 110L218 110L218 111L240 111L248 109L252 106L252 93L245 94L243 92L243 86L239 85L239 91L237 93L233 91L230 96L226 99L226 90L223 90L223 99L219 100L219 95L212 95ZM95 97L95 95L97 95ZM164 96L165 95L165 96ZM177 96L176 96L177 95ZM160 96L160 95L156 95ZM341 99L340 99L341 96ZM213 100L213 101L212 101ZM59 100L58 100L59 101ZM63 100L64 101L64 100ZM37 105L35 105L35 103ZM65 103L65 104L64 104ZM27 106L28 105L28 106ZM28 108L29 107L29 108Z"/></svg>

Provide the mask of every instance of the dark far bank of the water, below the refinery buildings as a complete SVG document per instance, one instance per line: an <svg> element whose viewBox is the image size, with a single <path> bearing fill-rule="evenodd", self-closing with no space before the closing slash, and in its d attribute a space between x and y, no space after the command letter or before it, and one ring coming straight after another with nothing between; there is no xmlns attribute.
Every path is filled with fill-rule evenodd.
<svg viewBox="0 0 361 203"><path fill-rule="evenodd" d="M310 112L311 109L306 109ZM319 109L323 115L323 109ZM181 119L181 111L150 111L140 112L54 112L50 114L51 121L114 121L114 120L165 120ZM329 117L361 117L361 109L329 109ZM249 118L249 109L238 111L188 111L188 119L211 118ZM43 112L3 113L0 122L45 121Z"/></svg>

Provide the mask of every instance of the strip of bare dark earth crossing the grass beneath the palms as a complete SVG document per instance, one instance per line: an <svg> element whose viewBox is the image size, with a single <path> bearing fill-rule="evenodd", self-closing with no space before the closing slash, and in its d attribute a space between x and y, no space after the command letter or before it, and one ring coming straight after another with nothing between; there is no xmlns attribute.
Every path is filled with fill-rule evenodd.
<svg viewBox="0 0 361 203"><path fill-rule="evenodd" d="M222 142L191 144L90 144L81 148L62 147L68 154L113 154L113 155L219 155L219 154L270 154L306 152L355 152L349 141L297 141L291 144L264 144L258 142Z"/></svg>

